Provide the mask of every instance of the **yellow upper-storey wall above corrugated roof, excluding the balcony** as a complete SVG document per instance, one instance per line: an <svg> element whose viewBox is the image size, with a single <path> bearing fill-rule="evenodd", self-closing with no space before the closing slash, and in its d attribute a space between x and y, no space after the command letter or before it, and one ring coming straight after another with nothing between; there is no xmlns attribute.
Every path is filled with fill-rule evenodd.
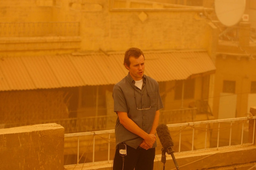
<svg viewBox="0 0 256 170"><path fill-rule="evenodd" d="M206 49L209 44L204 37L210 28L200 11L112 11L109 0L16 0L1 3L1 8L2 22L80 22L81 51Z"/></svg>

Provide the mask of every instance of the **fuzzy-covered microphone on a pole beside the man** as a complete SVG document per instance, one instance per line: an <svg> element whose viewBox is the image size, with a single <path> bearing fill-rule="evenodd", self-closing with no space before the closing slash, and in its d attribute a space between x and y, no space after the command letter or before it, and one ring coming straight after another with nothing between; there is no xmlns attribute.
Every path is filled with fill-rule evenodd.
<svg viewBox="0 0 256 170"><path fill-rule="evenodd" d="M162 144L163 149L168 155L171 155L173 158L173 162L176 166L176 169L179 170L179 166L177 164L176 158L174 156L173 151L173 140L170 135L170 131L166 124L159 124L157 126L157 135L159 137L160 143Z"/></svg>

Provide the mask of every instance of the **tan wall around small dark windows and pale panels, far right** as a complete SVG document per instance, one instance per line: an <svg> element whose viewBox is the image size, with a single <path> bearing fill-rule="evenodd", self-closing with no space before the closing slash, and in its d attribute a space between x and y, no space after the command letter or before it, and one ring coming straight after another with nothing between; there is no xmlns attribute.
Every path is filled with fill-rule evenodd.
<svg viewBox="0 0 256 170"><path fill-rule="evenodd" d="M217 56L214 89L214 116L218 117L220 93L222 93L223 80L236 81L237 105L236 117L244 117L247 113L248 94L251 90L251 81L256 80L256 60L249 60L246 57L241 59L236 56ZM230 106L232 103L230 103ZM227 106L228 107L228 106ZM251 107L251 106L250 106Z"/></svg>

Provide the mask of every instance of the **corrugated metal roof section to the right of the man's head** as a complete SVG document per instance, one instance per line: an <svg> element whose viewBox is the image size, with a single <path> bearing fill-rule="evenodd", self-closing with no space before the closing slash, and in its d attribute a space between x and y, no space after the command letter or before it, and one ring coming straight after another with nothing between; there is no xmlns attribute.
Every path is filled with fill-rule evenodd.
<svg viewBox="0 0 256 170"><path fill-rule="evenodd" d="M157 81L184 80L216 68L206 52L145 54L145 74Z"/></svg>

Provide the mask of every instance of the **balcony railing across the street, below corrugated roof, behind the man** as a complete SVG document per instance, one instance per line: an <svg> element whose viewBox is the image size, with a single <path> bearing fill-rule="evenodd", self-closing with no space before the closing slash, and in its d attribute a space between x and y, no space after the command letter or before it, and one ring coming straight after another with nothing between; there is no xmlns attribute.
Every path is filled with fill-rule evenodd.
<svg viewBox="0 0 256 170"><path fill-rule="evenodd" d="M175 110L163 110L160 111L159 123L170 124L173 122L193 122L197 113L197 108L184 108ZM99 130L113 129L116 124L116 114L113 112L111 116L90 116L79 118L67 118L67 119L51 119L41 120L37 122L19 122L8 123L2 125L4 128L27 126L32 124L47 124L57 123L65 128L65 133L78 133L78 132L91 132ZM1 122L0 122L1 124Z"/></svg>

